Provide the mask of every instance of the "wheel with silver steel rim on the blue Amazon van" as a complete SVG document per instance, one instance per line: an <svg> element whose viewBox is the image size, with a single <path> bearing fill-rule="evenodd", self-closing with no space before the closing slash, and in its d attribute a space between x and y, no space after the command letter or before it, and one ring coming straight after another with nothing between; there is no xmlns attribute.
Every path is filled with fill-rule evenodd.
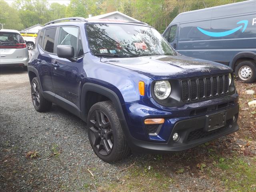
<svg viewBox="0 0 256 192"><path fill-rule="evenodd" d="M256 64L252 61L243 61L235 68L236 78L245 83L256 81Z"/></svg>

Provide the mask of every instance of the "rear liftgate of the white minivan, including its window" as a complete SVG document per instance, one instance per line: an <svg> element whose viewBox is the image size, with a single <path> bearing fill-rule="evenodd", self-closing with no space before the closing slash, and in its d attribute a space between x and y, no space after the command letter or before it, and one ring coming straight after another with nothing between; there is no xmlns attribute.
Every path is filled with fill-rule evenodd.
<svg viewBox="0 0 256 192"><path fill-rule="evenodd" d="M22 60L24 48L26 48L26 43L20 34L0 32L1 61Z"/></svg>

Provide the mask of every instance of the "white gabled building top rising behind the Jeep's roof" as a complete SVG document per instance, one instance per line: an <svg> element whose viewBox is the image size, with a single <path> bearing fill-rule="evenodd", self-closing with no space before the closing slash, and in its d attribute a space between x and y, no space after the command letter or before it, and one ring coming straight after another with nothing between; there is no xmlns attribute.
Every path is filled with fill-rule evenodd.
<svg viewBox="0 0 256 192"><path fill-rule="evenodd" d="M110 12L110 13L106 13L106 14L102 14L102 15L98 15L98 16L93 16L93 17L89 17L86 18L88 20L94 20L94 19L117 19L117 20L127 20L127 21L133 21L133 22L140 22L139 20L136 20L126 14L123 14L119 11L114 11L114 12Z"/></svg>

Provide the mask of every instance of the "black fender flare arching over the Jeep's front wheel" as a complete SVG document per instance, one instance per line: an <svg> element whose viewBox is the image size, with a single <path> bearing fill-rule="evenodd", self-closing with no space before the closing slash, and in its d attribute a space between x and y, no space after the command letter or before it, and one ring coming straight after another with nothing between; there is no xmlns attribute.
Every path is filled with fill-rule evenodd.
<svg viewBox="0 0 256 192"><path fill-rule="evenodd" d="M128 130L128 125L126 123L126 119L124 117L124 112L122 110L122 105L120 102L120 99L118 95L113 91L110 90L109 88L106 88L104 86L101 86L99 84L94 84L94 83L85 83L82 87L82 95L81 95L81 119L84 120L85 122L87 121L87 114L86 114L86 93L88 91L93 91L99 94L102 94L112 101L114 104L114 108L116 109L116 114L118 116L118 119L120 121L122 130L124 131L124 135L126 140L131 137L130 132Z"/></svg>

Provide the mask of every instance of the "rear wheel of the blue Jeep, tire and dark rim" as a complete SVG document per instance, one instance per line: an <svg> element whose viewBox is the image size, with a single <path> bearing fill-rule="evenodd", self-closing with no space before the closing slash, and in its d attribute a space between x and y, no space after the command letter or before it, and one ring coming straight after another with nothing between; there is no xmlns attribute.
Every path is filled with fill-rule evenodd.
<svg viewBox="0 0 256 192"><path fill-rule="evenodd" d="M33 78L31 82L31 96L34 108L38 112L45 112L50 110L52 102L46 100L42 95L37 77Z"/></svg>

